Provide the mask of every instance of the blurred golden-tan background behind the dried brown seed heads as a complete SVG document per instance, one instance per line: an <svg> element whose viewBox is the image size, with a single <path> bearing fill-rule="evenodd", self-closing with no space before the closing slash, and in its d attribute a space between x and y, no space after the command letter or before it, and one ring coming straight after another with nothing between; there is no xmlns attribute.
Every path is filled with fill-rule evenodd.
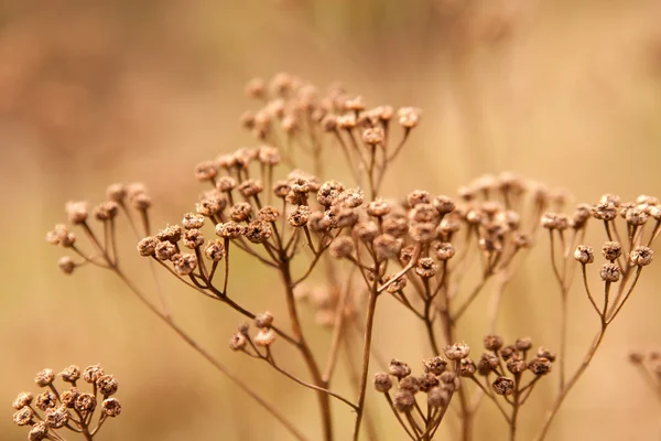
<svg viewBox="0 0 661 441"><path fill-rule="evenodd" d="M285 71L322 90L339 80L369 106L422 108L386 194L423 187L453 195L481 173L511 170L566 187L575 202L607 192L661 196L659 17L658 0L2 2L0 439L25 439L11 423L15 394L35 391L37 370L72 363L101 363L120 381L123 412L102 440L288 439L115 278L93 268L64 277L61 250L43 240L65 220L66 201L100 202L113 182L143 181L155 225L178 222L201 191L193 166L254 144L238 123L256 108L243 95L251 77ZM149 271L133 258L128 230L124 237L124 265L149 290ZM546 252L542 241L510 286L499 324L508 341L530 335L557 347L559 295ZM661 407L627 362L630 348L661 345L658 265L609 330L550 440L661 434ZM239 267L231 288L240 301L282 311L279 293L268 290L274 275L248 277L248 259ZM239 316L169 278L161 283L191 333L317 433L313 394L227 349ZM573 292L570 366L597 329L582 291ZM479 346L484 319L478 311L470 320L462 335ZM305 326L325 347L328 332L312 319ZM379 311L377 330L386 357L419 368L432 355L422 329L392 302ZM524 408L521 440L539 428L555 380L543 381ZM337 387L348 394L346 380ZM402 439L373 394L368 405L382 411L381 439ZM476 439L498 439L503 423L492 405L480 412ZM353 415L342 406L335 415L338 439L347 439Z"/></svg>

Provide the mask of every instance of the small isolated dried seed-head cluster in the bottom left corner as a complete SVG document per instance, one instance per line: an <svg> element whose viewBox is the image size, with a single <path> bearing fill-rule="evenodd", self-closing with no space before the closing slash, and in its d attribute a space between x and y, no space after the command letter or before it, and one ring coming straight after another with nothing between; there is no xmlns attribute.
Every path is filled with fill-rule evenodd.
<svg viewBox="0 0 661 441"><path fill-rule="evenodd" d="M100 365L88 366L83 372L78 366L72 365L57 375L69 384L68 389L59 392L55 387L53 369L43 369L36 374L34 383L45 390L36 397L31 392L20 392L13 401L17 409L14 423L32 428L28 440L64 441L63 432L69 432L78 439L89 441L95 439L108 418L121 413L119 400L112 397L117 392L117 379L107 375ZM91 385L91 392L78 389L80 378ZM95 418L99 398L102 401L99 416Z"/></svg>

